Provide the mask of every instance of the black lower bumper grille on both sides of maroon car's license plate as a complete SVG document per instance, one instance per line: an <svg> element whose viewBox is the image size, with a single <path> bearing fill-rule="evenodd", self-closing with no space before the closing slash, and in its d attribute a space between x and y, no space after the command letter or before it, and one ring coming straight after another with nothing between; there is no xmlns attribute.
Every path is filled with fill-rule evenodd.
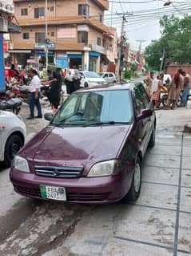
<svg viewBox="0 0 191 256"><path fill-rule="evenodd" d="M15 189L18 193L25 194L29 197L41 197L40 189L30 189L16 185ZM67 193L66 201L105 201L109 197L109 193Z"/></svg>

